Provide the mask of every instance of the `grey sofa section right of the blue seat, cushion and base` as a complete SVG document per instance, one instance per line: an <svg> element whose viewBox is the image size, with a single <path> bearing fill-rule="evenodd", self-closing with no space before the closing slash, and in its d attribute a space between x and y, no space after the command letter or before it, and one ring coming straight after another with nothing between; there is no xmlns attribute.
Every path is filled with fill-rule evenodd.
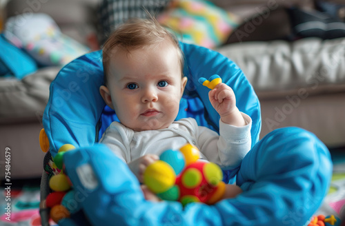
<svg viewBox="0 0 345 226"><path fill-rule="evenodd" d="M259 96L261 138L298 126L328 147L345 145L345 38L237 43L218 51L242 68Z"/></svg>

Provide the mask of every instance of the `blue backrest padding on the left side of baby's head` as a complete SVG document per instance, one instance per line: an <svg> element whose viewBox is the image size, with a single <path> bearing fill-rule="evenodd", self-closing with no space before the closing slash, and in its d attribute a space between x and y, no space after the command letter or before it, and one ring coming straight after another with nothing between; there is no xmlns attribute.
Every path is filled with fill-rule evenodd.
<svg viewBox="0 0 345 226"><path fill-rule="evenodd" d="M43 126L52 156L65 143L83 147L95 143L96 125L105 105L101 51L79 57L61 69L50 84Z"/></svg>

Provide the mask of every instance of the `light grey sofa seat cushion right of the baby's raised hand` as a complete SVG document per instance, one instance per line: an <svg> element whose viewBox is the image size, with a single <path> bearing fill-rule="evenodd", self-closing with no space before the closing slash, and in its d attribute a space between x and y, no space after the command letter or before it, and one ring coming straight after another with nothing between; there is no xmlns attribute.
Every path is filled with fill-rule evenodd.
<svg viewBox="0 0 345 226"><path fill-rule="evenodd" d="M345 88L345 38L235 43L217 51L242 68L260 100Z"/></svg>

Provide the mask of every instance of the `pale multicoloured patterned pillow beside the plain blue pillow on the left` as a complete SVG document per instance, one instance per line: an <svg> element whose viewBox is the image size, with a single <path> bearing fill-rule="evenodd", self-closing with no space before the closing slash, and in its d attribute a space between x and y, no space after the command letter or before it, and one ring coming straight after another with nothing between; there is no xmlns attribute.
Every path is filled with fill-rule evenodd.
<svg viewBox="0 0 345 226"><path fill-rule="evenodd" d="M39 66L66 65L89 49L61 33L48 14L19 14L6 22L4 35L10 43L28 52Z"/></svg>

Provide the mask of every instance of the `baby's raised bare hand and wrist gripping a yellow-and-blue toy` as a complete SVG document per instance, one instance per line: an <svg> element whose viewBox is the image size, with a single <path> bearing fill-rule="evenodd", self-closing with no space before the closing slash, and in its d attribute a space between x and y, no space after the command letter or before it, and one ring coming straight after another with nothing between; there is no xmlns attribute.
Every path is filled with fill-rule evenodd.
<svg viewBox="0 0 345 226"><path fill-rule="evenodd" d="M246 125L244 117L236 107L235 93L228 85L219 83L208 92L208 97L223 123L235 126Z"/></svg>

